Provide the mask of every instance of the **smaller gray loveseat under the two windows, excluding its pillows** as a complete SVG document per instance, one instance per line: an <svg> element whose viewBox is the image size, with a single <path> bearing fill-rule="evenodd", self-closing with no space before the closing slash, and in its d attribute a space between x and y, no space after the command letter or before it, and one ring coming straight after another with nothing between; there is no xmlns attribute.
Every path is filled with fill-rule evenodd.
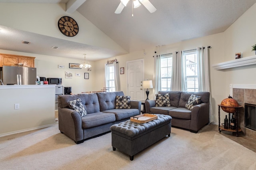
<svg viewBox="0 0 256 170"><path fill-rule="evenodd" d="M197 133L204 125L209 123L209 92L185 92L185 91L159 91L158 94L170 95L170 107L156 107L156 100L145 101L146 113L158 113L170 115L172 126L190 130ZM199 105L192 110L185 105L191 94L201 96Z"/></svg>

